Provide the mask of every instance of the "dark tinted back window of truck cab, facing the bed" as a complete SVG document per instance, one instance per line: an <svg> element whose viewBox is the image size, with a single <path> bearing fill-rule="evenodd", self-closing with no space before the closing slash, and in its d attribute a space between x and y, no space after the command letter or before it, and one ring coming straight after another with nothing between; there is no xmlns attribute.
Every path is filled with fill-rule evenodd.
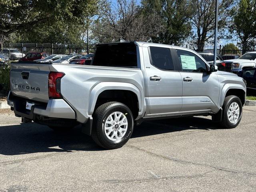
<svg viewBox="0 0 256 192"><path fill-rule="evenodd" d="M136 45L133 42L98 45L92 65L137 68Z"/></svg>

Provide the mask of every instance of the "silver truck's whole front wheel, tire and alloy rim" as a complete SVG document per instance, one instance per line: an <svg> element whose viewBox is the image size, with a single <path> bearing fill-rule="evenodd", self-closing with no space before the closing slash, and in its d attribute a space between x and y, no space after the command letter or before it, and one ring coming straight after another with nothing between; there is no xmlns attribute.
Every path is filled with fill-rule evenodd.
<svg viewBox="0 0 256 192"><path fill-rule="evenodd" d="M242 118L242 102L234 95L227 96L223 103L221 124L225 128L235 128Z"/></svg>

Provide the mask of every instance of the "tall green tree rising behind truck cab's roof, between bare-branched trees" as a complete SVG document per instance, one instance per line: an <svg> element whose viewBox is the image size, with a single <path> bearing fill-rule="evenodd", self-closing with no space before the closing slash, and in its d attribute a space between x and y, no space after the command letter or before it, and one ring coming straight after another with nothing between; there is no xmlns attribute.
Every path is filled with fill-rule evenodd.
<svg viewBox="0 0 256 192"><path fill-rule="evenodd" d="M191 14L188 0L142 0L144 14L154 10L162 29L151 37L152 42L180 45L191 34Z"/></svg>

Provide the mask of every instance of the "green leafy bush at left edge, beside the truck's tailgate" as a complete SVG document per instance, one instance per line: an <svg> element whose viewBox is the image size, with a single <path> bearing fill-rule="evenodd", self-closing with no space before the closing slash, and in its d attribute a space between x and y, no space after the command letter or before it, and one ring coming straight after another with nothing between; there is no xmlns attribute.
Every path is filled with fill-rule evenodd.
<svg viewBox="0 0 256 192"><path fill-rule="evenodd" d="M10 66L0 66L0 92L7 94L10 90Z"/></svg>

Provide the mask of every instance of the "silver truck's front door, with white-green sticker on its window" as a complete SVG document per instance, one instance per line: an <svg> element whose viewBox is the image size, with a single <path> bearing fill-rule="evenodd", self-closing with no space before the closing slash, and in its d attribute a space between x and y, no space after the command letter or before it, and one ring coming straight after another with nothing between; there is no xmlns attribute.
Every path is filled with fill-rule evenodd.
<svg viewBox="0 0 256 192"><path fill-rule="evenodd" d="M218 106L220 85L215 73L207 73L206 63L189 50L176 49L183 82L181 112L207 112Z"/></svg>

